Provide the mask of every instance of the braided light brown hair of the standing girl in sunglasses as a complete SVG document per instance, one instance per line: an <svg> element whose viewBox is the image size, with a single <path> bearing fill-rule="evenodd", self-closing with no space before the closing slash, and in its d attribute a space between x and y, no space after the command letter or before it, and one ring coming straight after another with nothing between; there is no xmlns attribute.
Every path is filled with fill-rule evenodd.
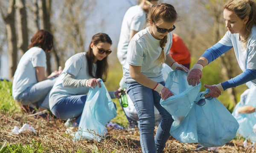
<svg viewBox="0 0 256 153"><path fill-rule="evenodd" d="M147 20L149 21L149 19L151 19L154 24L160 23L160 21L168 23L175 22L177 20L177 12L171 4L162 3L155 5L150 9ZM155 60L155 63L160 67L166 60L166 55L164 53L164 47L166 45L166 42L167 35L160 40L160 47L162 48L162 51L160 56Z"/></svg>

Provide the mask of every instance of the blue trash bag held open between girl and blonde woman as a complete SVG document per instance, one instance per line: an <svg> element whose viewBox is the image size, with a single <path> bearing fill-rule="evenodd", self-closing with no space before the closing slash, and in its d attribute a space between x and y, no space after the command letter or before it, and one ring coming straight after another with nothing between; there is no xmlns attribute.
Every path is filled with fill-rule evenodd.
<svg viewBox="0 0 256 153"><path fill-rule="evenodd" d="M175 96L160 101L174 119L170 134L183 143L200 143L205 147L223 146L236 136L239 124L218 99L206 100L198 106L195 99L201 83L188 85L187 74L180 70L169 73L166 87Z"/></svg>

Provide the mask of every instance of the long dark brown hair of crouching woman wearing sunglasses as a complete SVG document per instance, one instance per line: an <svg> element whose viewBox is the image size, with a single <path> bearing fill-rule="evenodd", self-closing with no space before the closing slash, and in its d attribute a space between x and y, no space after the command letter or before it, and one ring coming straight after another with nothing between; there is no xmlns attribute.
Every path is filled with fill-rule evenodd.
<svg viewBox="0 0 256 153"><path fill-rule="evenodd" d="M94 45L97 45L99 42L107 42L110 45L112 45L112 40L110 39L108 34L104 34L104 33L95 34L92 37L92 41L90 42L90 44L93 43ZM90 45L86 53L86 57L87 57L89 75L93 78L100 78L103 80L103 82L105 82L108 77L108 56L106 56L101 61L97 60L96 62L97 69L96 69L95 76L93 76L93 61L96 57L94 56L93 49L90 47Z"/></svg>

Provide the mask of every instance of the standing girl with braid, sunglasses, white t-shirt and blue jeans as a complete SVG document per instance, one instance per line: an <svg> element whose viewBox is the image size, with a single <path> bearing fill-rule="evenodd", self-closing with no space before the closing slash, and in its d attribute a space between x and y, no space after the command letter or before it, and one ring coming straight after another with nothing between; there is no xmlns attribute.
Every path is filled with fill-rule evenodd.
<svg viewBox="0 0 256 153"><path fill-rule="evenodd" d="M143 153L161 153L170 136L173 122L161 105L160 99L173 96L164 87L162 64L165 62L173 70L188 72L183 65L169 55L172 33L177 20L175 8L170 4L155 5L148 14L148 27L139 31L128 45L127 61L123 77L140 122L140 144ZM154 106L160 112L162 121L154 139Z"/></svg>

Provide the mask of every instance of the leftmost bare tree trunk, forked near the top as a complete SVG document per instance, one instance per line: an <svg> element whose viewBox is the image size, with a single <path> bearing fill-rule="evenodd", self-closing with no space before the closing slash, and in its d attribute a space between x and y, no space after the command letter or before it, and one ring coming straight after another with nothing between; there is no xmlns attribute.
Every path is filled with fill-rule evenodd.
<svg viewBox="0 0 256 153"><path fill-rule="evenodd" d="M15 0L9 1L7 13L3 13L0 7L1 16L6 23L7 41L8 41L8 57L9 57L9 78L15 74L17 68L17 38L15 28Z"/></svg>

